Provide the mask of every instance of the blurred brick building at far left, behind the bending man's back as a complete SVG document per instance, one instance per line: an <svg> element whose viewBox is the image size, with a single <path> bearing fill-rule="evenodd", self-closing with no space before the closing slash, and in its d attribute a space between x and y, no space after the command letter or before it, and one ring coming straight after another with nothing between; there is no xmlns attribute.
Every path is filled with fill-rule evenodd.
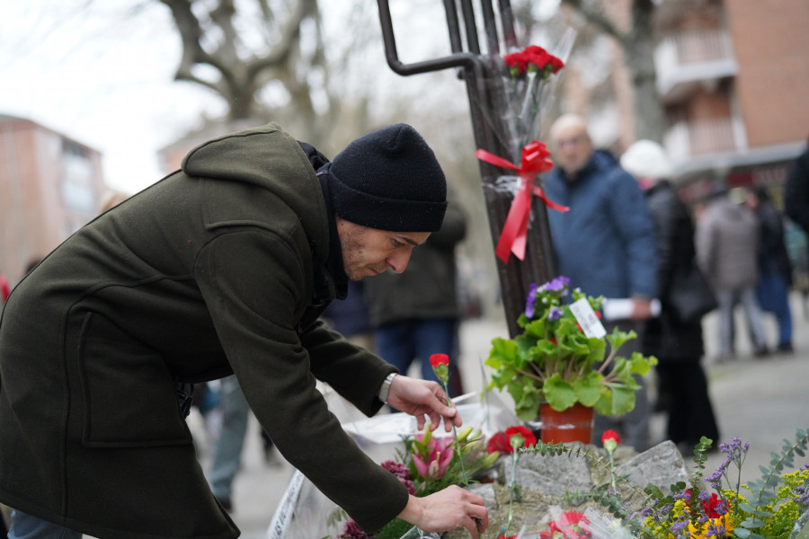
<svg viewBox="0 0 809 539"><path fill-rule="evenodd" d="M96 215L105 191L99 152L0 114L0 273L19 281Z"/></svg>

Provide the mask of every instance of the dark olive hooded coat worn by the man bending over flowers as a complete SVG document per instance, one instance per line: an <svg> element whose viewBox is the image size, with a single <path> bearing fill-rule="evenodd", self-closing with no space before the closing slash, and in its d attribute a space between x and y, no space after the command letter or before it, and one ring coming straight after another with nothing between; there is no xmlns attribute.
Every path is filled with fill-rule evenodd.
<svg viewBox="0 0 809 539"><path fill-rule="evenodd" d="M396 517L405 487L315 387L370 415L395 371L313 322L334 296L327 215L270 124L195 148L50 253L0 322L0 501L103 539L236 537L173 389L232 369L289 463L366 530Z"/></svg>

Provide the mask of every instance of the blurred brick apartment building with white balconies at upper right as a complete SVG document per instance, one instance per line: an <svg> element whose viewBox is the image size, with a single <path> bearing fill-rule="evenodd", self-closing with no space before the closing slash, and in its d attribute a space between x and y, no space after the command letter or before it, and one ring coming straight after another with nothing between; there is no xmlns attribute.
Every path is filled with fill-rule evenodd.
<svg viewBox="0 0 809 539"><path fill-rule="evenodd" d="M610 16L628 20L628 0L603 4ZM787 167L809 139L809 2L656 4L656 86L667 117L662 143L683 198L698 201L723 180L729 187L764 185L779 203ZM581 88L568 91L585 116L609 119L599 122L606 129L596 143L620 152L634 141L632 88L614 50L606 82L611 102L596 105L582 100Z"/></svg>

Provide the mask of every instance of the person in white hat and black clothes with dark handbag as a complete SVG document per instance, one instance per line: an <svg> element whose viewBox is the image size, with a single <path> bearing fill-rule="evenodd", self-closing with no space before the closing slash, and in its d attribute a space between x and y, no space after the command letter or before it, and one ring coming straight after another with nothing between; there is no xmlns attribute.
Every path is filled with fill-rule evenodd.
<svg viewBox="0 0 809 539"><path fill-rule="evenodd" d="M657 294L660 316L645 322L643 353L658 359L659 399L667 415L666 437L690 454L700 437L718 444L719 429L702 368L702 319L680 320L672 295L696 263L694 225L689 210L668 181L671 163L652 140L638 140L621 155L621 166L644 190L657 237Z"/></svg>

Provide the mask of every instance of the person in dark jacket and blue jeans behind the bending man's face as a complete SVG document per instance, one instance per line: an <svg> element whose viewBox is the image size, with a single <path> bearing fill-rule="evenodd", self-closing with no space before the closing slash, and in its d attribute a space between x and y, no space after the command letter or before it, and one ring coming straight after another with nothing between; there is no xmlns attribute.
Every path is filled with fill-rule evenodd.
<svg viewBox="0 0 809 539"><path fill-rule="evenodd" d="M463 392L458 370L456 248L466 234L466 216L450 199L440 230L413 252L405 273L387 270L363 283L379 356L402 373L418 359L422 378L438 381L428 359L432 354L447 354L452 397Z"/></svg>

